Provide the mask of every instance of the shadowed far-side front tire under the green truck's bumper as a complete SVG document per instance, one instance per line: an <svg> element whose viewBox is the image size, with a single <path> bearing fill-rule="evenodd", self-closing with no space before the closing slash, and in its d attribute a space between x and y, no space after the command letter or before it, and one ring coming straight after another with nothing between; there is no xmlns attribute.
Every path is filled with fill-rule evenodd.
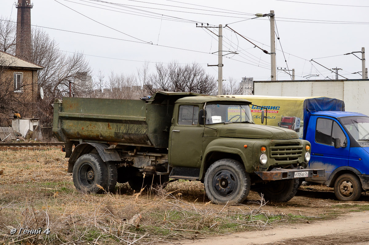
<svg viewBox="0 0 369 245"><path fill-rule="evenodd" d="M299 183L299 179L276 180L261 184L258 193L263 194L265 201L288 202L296 195Z"/></svg>

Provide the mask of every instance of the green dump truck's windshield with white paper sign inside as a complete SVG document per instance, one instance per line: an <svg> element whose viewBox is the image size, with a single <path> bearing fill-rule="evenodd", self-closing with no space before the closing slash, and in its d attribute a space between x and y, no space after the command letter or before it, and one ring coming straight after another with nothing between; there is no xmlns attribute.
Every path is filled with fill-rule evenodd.
<svg viewBox="0 0 369 245"><path fill-rule="evenodd" d="M254 123L248 105L235 104L208 104L206 110L206 124L224 122Z"/></svg>

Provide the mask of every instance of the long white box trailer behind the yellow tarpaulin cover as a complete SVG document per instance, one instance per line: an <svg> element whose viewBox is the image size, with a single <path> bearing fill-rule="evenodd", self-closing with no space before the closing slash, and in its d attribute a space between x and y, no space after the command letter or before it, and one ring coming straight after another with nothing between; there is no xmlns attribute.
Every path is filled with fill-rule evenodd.
<svg viewBox="0 0 369 245"><path fill-rule="evenodd" d="M369 115L369 79L254 81L254 94L337 98L345 101L345 111Z"/></svg>

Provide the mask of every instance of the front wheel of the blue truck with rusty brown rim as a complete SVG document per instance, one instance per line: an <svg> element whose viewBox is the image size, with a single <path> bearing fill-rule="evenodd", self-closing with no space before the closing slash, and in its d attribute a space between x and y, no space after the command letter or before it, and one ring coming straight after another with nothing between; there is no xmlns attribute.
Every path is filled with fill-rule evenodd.
<svg viewBox="0 0 369 245"><path fill-rule="evenodd" d="M334 194L340 201L356 201L362 191L360 179L354 174L342 174L334 182Z"/></svg>

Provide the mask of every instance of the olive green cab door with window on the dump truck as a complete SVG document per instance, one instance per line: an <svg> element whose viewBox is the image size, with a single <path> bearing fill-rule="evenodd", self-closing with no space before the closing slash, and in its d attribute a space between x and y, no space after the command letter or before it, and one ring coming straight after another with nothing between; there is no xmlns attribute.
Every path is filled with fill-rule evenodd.
<svg viewBox="0 0 369 245"><path fill-rule="evenodd" d="M172 167L200 168L204 128L199 125L199 105L177 105L170 127L169 163Z"/></svg>

